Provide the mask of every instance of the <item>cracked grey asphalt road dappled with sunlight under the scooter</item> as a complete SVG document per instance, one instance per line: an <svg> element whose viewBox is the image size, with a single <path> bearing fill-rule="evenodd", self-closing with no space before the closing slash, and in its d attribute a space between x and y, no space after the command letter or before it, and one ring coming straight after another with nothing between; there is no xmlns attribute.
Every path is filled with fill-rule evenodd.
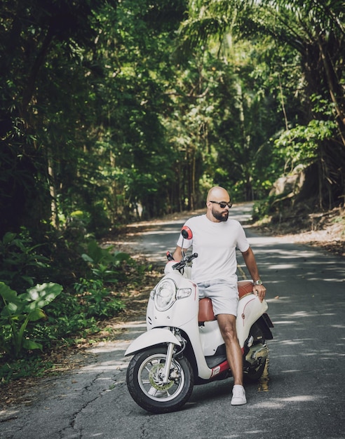
<svg viewBox="0 0 345 439"><path fill-rule="evenodd" d="M243 210L244 209L244 210ZM244 220L248 205L231 209ZM182 224L155 224L138 248L165 261ZM339 439L345 438L345 260L316 248L252 234L275 327L269 367L246 387L248 404L231 407L232 381L196 386L180 412L149 414L126 388L130 339L144 320L129 323L118 342L88 350L87 364L42 379L27 400L0 411L6 439ZM245 272L241 255L238 262ZM239 273L243 273L242 269Z"/></svg>

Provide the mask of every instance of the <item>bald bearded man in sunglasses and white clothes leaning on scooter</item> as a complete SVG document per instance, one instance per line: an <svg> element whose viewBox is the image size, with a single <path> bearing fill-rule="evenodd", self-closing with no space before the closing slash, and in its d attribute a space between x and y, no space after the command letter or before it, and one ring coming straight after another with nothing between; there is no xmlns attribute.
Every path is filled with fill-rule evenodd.
<svg viewBox="0 0 345 439"><path fill-rule="evenodd" d="M262 301L266 288L260 280L254 253L245 237L245 231L236 219L229 218L231 201L222 187L212 187L206 201L207 212L187 220L193 238L184 241L184 251L193 245L198 253L192 267L192 278L198 284L199 297L210 297L219 329L226 346L226 358L234 377L231 405L247 403L243 388L243 360L236 334L238 306L236 248L243 255L245 265L254 281L253 292ZM182 259L182 236L172 255Z"/></svg>

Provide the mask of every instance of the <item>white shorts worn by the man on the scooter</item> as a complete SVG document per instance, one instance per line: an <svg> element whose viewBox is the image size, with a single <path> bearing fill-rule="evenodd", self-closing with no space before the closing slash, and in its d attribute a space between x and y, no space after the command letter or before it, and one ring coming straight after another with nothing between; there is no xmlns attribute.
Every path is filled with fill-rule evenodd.
<svg viewBox="0 0 345 439"><path fill-rule="evenodd" d="M213 279L212 281L198 283L198 289L199 299L209 297L212 300L215 316L218 314L237 316L237 283L224 281L224 279Z"/></svg>

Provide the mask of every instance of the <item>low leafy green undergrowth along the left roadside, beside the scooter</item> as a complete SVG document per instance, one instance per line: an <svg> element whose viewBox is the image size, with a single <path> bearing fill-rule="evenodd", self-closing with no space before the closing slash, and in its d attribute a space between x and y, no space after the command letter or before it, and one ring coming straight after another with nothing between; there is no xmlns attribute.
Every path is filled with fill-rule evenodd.
<svg viewBox="0 0 345 439"><path fill-rule="evenodd" d="M98 332L100 320L125 308L115 286L122 289L129 281L140 282L145 271L114 246L102 248L94 240L76 244L56 233L47 234L46 239L34 243L22 229L20 234L7 233L0 241L3 382L28 376L30 370L39 374L42 351L72 345L76 337ZM54 283L33 286L38 279L51 278ZM21 361L27 365L25 370Z"/></svg>

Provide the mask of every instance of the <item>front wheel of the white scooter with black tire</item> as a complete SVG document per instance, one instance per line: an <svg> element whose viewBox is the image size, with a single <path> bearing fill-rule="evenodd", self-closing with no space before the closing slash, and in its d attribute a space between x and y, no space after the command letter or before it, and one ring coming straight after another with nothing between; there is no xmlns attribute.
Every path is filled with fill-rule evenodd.
<svg viewBox="0 0 345 439"><path fill-rule="evenodd" d="M187 358L172 358L170 379L161 380L167 349L155 346L136 353L127 369L127 387L133 400L151 413L179 410L191 396L194 374Z"/></svg>

